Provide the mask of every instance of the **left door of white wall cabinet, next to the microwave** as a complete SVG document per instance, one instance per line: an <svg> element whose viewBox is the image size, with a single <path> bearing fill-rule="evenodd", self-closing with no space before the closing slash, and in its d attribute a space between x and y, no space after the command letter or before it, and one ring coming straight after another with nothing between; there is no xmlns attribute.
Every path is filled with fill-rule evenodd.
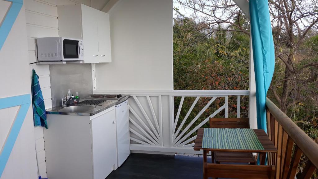
<svg viewBox="0 0 318 179"><path fill-rule="evenodd" d="M82 30L84 44L84 63L98 63L98 31L97 31L97 10L81 5Z"/></svg>

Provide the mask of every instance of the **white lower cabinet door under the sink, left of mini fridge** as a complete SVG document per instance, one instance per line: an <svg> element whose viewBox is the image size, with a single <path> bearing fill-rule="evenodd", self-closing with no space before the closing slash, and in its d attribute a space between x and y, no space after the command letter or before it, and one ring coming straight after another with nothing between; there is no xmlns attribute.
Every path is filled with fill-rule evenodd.
<svg viewBox="0 0 318 179"><path fill-rule="evenodd" d="M115 110L92 119L94 179L104 179L117 168Z"/></svg>

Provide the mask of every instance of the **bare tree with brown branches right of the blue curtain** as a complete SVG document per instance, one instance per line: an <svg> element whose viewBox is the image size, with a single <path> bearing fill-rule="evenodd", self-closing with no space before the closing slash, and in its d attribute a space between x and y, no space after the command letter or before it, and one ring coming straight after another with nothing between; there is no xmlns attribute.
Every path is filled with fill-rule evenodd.
<svg viewBox="0 0 318 179"><path fill-rule="evenodd" d="M317 5L317 1L306 0L269 1L275 56L285 64L283 78L274 80L271 89L284 112L304 102L302 91L317 80L317 56L310 54L304 43L309 33L317 30Z"/></svg>

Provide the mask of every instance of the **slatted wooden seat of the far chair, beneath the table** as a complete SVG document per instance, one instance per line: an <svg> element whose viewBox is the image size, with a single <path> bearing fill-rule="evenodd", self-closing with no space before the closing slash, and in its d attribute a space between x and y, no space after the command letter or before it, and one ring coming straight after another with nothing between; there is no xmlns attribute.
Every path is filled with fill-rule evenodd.
<svg viewBox="0 0 318 179"><path fill-rule="evenodd" d="M214 161L216 161L216 163L234 162L256 164L256 159L252 153L214 152Z"/></svg>

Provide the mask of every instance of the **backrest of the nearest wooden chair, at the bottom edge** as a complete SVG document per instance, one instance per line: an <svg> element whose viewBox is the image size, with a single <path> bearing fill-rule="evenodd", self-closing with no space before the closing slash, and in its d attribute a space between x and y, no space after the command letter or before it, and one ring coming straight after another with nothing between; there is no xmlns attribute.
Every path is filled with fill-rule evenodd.
<svg viewBox="0 0 318 179"><path fill-rule="evenodd" d="M273 179L274 165L241 165L204 163L208 177Z"/></svg>

